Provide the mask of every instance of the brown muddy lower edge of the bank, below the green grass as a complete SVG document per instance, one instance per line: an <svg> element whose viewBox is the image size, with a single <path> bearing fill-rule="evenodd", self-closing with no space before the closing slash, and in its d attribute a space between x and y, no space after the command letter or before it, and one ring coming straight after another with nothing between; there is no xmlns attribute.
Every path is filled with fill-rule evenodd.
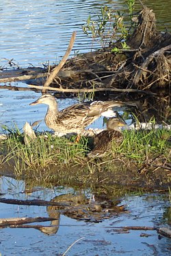
<svg viewBox="0 0 171 256"><path fill-rule="evenodd" d="M111 186L125 190L168 190L171 182L171 165L164 155L148 158L142 165L122 156L110 156L93 161L78 158L77 162L72 163L70 160L70 165L57 162L47 167L29 167L23 171L16 171L16 160L10 159L0 165L0 174L24 179L33 187L51 184L75 188L91 187L95 190Z"/></svg>

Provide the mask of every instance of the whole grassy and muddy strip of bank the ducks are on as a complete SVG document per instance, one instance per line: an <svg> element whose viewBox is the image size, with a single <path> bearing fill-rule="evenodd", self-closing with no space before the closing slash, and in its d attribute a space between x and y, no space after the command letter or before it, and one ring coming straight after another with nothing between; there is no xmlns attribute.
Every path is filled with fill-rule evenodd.
<svg viewBox="0 0 171 256"><path fill-rule="evenodd" d="M36 184L168 189L171 178L171 130L124 130L103 158L88 158L92 139L40 134L25 144L14 132L1 141L1 175L32 179Z"/></svg>

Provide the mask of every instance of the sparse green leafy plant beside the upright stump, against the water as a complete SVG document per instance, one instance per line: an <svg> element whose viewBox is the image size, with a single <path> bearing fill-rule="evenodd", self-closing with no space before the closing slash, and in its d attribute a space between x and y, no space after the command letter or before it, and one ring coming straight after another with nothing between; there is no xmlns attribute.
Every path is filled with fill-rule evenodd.
<svg viewBox="0 0 171 256"><path fill-rule="evenodd" d="M135 0L125 1L128 6L130 21L132 25L132 16L134 10ZM125 15L126 16L126 15ZM125 39L129 35L128 20L124 20L124 14L119 10L113 11L107 6L101 7L101 14L94 16L88 16L86 24L82 26L83 33L90 35L92 38L92 46L94 41L101 41L101 46L106 46L109 42L120 41L122 42L122 48L126 49ZM124 41L123 41L124 40ZM114 52L118 50L114 48Z"/></svg>

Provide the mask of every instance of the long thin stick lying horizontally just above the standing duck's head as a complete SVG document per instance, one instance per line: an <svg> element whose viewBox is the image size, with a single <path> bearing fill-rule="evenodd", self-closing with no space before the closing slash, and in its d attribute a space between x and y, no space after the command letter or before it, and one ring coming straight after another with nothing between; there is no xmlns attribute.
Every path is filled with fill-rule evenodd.
<svg viewBox="0 0 171 256"><path fill-rule="evenodd" d="M151 91L142 91L139 89L118 89L118 88L96 88L96 89L64 89L64 88L54 88L54 87L42 87L39 85L28 85L31 88L36 89L49 89L51 91L62 91L62 92L71 92L71 93L80 93L80 92L94 92L94 91L121 91L121 92L133 92L140 94L148 94L148 95L157 95Z"/></svg>

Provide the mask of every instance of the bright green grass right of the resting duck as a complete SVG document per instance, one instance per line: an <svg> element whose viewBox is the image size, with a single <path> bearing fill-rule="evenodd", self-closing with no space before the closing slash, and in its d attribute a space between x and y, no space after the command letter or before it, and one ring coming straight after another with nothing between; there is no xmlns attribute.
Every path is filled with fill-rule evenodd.
<svg viewBox="0 0 171 256"><path fill-rule="evenodd" d="M116 156L125 156L142 164L148 158L161 154L169 158L171 132L168 130L124 130L124 140L120 145L113 143L112 152Z"/></svg>

